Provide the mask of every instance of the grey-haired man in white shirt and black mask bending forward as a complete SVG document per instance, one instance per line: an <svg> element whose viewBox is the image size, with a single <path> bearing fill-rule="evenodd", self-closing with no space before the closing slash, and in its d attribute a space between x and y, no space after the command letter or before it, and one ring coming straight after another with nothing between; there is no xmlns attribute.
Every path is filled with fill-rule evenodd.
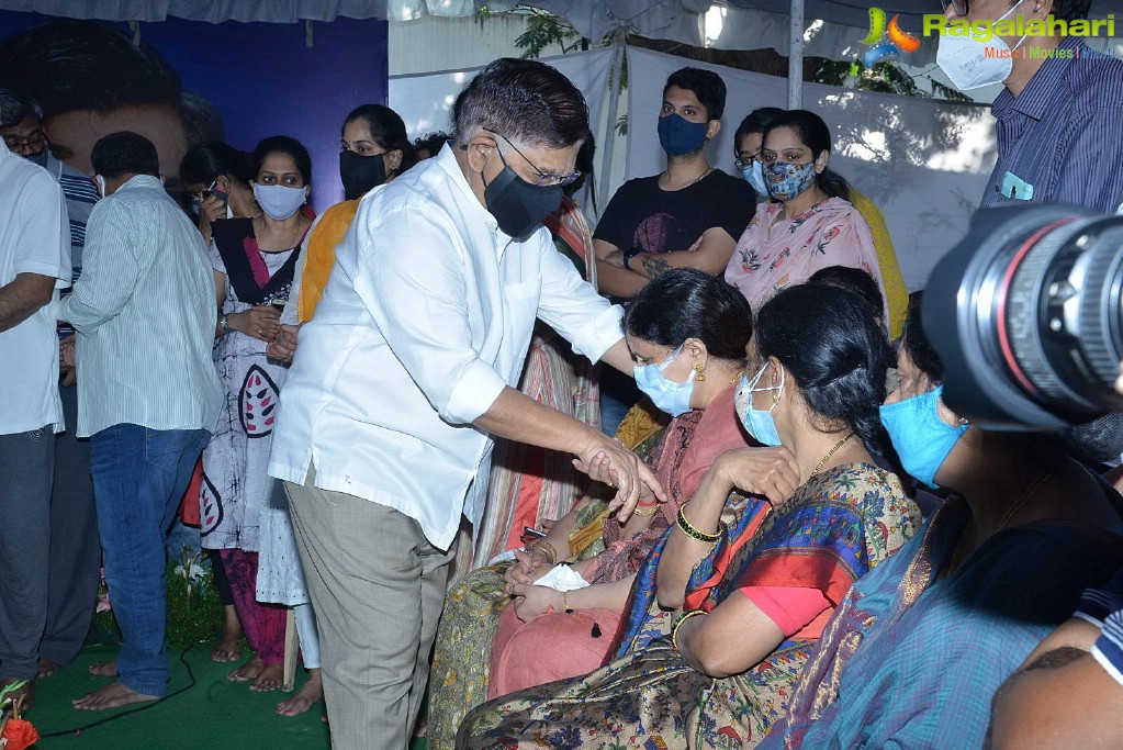
<svg viewBox="0 0 1123 750"><path fill-rule="evenodd" d="M270 473L285 481L335 748L405 748L460 515L481 520L492 436L604 454L627 516L663 488L631 452L515 390L536 317L631 372L622 311L540 222L576 179L584 99L501 60L460 93L457 138L367 193L299 337Z"/></svg>

